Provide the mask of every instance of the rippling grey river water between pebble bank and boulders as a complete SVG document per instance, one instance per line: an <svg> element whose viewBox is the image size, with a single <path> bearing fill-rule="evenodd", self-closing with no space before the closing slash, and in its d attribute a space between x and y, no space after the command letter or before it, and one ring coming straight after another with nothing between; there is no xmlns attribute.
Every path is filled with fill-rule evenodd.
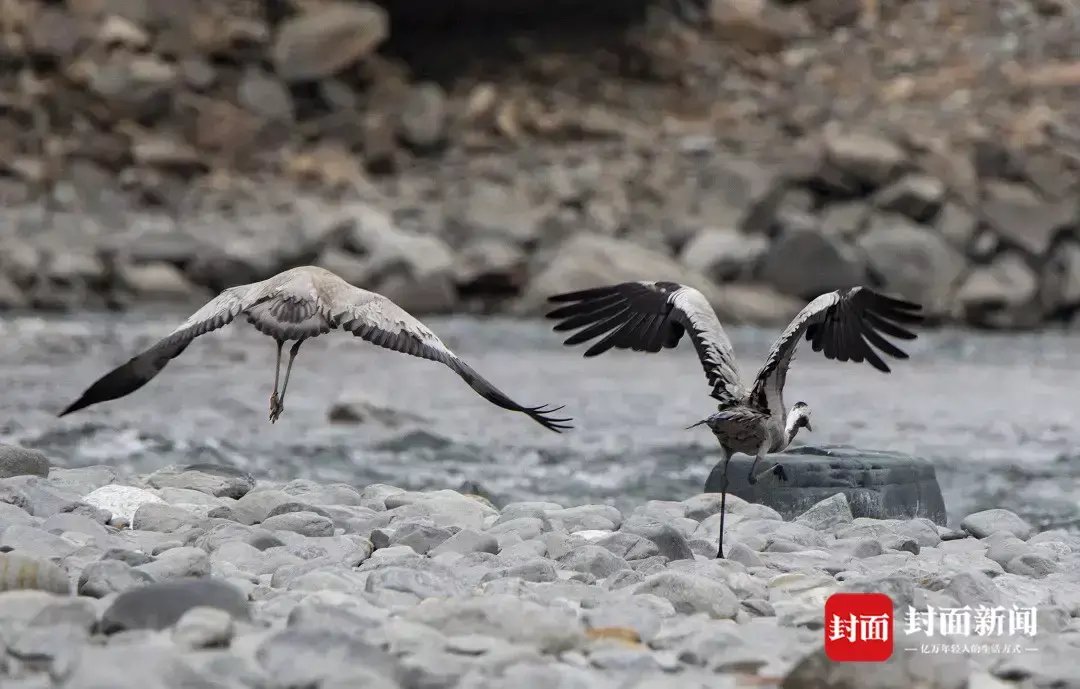
<svg viewBox="0 0 1080 689"><path fill-rule="evenodd" d="M681 499L702 489L716 461L707 430L684 430L713 408L688 341L660 354L586 361L543 323L502 320L428 323L514 400L565 404L575 431L545 431L489 405L438 364L342 333L303 344L286 410L270 424L274 346L246 323L200 338L125 398L55 417L185 315L0 320L0 438L40 448L57 464L133 472L213 461L268 478L406 488L474 482L497 503ZM752 378L777 330L730 334ZM1043 524L1078 523L1080 334L937 330L908 352L912 360L886 376L800 348L785 397L811 405L814 432L799 441L933 460L950 521L1005 506ZM339 400L397 410L402 421L330 422Z"/></svg>

